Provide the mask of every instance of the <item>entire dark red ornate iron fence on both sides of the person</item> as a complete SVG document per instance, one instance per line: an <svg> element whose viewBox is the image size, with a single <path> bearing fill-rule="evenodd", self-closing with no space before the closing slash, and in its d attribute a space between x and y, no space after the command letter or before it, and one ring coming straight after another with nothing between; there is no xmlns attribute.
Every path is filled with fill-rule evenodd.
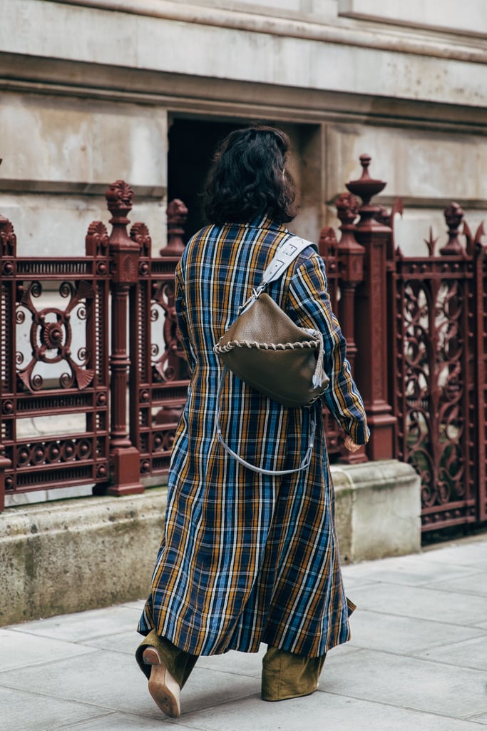
<svg viewBox="0 0 487 731"><path fill-rule="evenodd" d="M438 254L404 257L394 216L372 202L386 183L362 175L337 198L340 237L319 248L329 294L364 395L371 439L343 452L323 412L331 458L397 457L421 475L423 530L486 520L486 247L483 228L446 211ZM361 198L358 205L356 196ZM187 211L168 206L168 245L151 254L150 233L128 215L123 181L107 190L110 235L94 221L85 257L26 259L0 217L0 509L4 494L93 484L96 493L137 493L169 467L188 372L177 338L175 266ZM109 323L110 332L109 332ZM41 433L26 424L42 423ZM66 421L67 420L67 421ZM74 423L74 425L73 425Z"/></svg>

